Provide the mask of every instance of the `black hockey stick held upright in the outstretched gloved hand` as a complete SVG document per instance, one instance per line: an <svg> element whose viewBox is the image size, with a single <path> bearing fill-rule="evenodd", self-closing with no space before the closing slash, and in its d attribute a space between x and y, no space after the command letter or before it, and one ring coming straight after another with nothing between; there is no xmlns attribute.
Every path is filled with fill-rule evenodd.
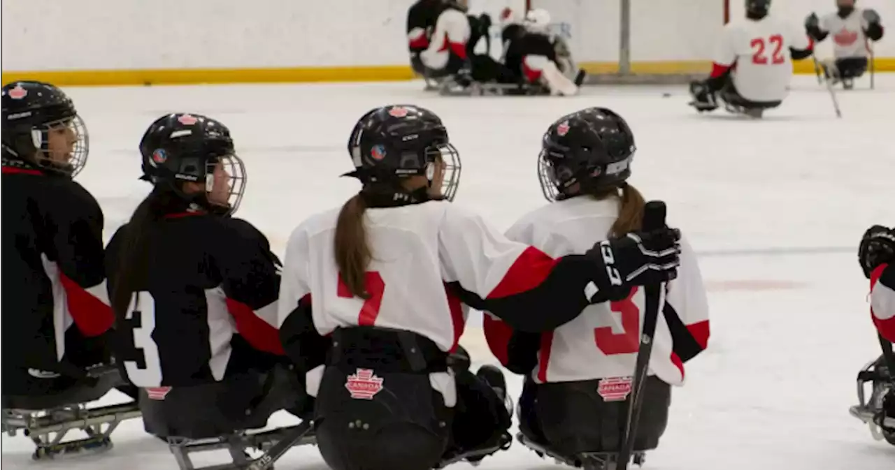
<svg viewBox="0 0 895 470"><path fill-rule="evenodd" d="M644 231L657 230L665 225L665 203L650 201L644 207ZM634 369L634 383L631 387L631 398L628 399L627 422L625 434L622 436L621 451L618 453L617 470L627 470L631 456L634 454L634 442L637 438L637 422L640 410L644 407L644 382L650 369L652 356L652 338L656 333L656 323L664 303L665 282L644 288L646 310L644 312L644 332L640 337L640 348L637 350L637 364Z"/></svg>

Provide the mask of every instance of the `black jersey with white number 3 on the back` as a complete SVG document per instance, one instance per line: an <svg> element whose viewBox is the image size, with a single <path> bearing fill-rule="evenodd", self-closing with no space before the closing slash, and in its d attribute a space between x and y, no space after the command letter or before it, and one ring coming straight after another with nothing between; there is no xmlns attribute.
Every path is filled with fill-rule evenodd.
<svg viewBox="0 0 895 470"><path fill-rule="evenodd" d="M121 227L107 247L110 297L129 230ZM281 360L280 264L260 231L241 219L183 212L143 236L148 269L116 328L115 357L130 382L219 382Z"/></svg>

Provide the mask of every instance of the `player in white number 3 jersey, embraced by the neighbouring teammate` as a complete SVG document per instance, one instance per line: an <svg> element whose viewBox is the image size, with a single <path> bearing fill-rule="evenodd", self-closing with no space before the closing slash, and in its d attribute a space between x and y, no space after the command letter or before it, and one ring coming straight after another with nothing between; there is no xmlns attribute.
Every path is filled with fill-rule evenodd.
<svg viewBox="0 0 895 470"><path fill-rule="evenodd" d="M507 237L549 256L569 256L601 239L639 230L644 198L626 182L634 153L634 134L609 109L559 118L544 135L538 159L541 189L551 204L525 214ZM683 238L681 248L678 278L668 284L652 344L635 439L638 453L658 446L668 422L669 384L683 384L685 363L709 339L702 276ZM643 318L644 290L636 287L618 290L608 303L585 307L582 315L550 332L520 332L486 316L492 352L525 377L518 406L521 441L568 463L614 461L626 427Z"/></svg>

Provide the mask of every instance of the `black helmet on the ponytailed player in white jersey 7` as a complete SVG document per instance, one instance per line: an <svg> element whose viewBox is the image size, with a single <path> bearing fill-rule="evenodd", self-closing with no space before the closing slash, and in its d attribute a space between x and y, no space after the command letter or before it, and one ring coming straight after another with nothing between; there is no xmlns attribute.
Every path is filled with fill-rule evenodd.
<svg viewBox="0 0 895 470"><path fill-rule="evenodd" d="M430 185L440 176L441 194L451 200L460 180L460 154L451 145L441 118L414 105L388 105L364 114L348 139L354 172L365 187L376 185L401 193L400 180L425 176Z"/></svg>

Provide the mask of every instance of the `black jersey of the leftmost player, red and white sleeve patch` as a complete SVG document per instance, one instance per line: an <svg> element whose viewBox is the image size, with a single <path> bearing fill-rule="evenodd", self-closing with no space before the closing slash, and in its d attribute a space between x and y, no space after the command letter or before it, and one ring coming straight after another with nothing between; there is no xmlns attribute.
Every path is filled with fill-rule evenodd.
<svg viewBox="0 0 895 470"><path fill-rule="evenodd" d="M68 176L4 159L2 213L4 373L76 375L104 361L86 350L113 323L97 200Z"/></svg>

